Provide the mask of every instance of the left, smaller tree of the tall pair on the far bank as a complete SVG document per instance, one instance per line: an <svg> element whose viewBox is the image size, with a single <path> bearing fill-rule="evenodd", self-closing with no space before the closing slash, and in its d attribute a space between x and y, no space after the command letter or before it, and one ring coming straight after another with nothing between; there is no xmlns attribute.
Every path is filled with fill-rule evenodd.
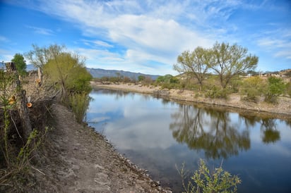
<svg viewBox="0 0 291 193"><path fill-rule="evenodd" d="M198 46L194 51L184 51L177 58L177 64L174 64L174 70L179 73L194 75L198 80L200 90L203 89L203 80L208 72L210 61L210 51Z"/></svg>

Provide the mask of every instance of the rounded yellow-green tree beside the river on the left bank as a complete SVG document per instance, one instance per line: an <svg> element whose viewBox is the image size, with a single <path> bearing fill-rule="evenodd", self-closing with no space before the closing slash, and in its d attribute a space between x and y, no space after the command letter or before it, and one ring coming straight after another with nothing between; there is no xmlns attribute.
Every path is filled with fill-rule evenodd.
<svg viewBox="0 0 291 193"><path fill-rule="evenodd" d="M70 92L90 90L88 81L92 76L85 69L84 62L78 54L62 52L44 65L44 73L49 80L59 85L61 101L65 101Z"/></svg>

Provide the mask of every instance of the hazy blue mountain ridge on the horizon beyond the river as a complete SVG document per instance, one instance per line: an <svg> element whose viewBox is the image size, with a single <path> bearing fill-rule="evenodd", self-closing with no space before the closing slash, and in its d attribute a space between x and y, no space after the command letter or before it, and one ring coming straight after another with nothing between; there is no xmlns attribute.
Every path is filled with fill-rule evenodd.
<svg viewBox="0 0 291 193"><path fill-rule="evenodd" d="M124 70L105 70L105 69L100 69L100 68L87 68L88 72L93 76L93 77L117 77L117 74L124 76L124 77L129 77L131 79L138 79L138 76L143 75L145 77L150 77L152 80L156 80L160 75L147 75L143 73L132 73L129 71L124 71Z"/></svg>

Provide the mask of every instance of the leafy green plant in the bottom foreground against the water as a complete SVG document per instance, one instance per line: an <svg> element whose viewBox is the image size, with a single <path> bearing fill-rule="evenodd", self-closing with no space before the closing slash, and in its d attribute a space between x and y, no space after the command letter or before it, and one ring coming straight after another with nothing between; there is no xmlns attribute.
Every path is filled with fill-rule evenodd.
<svg viewBox="0 0 291 193"><path fill-rule="evenodd" d="M237 185L242 182L237 175L232 176L230 173L223 170L222 166L210 172L202 159L199 162L198 170L191 176L193 182L189 181L188 185L185 185L184 180L187 176L184 171L184 165L179 173L182 177L184 192L186 193L237 192Z"/></svg>

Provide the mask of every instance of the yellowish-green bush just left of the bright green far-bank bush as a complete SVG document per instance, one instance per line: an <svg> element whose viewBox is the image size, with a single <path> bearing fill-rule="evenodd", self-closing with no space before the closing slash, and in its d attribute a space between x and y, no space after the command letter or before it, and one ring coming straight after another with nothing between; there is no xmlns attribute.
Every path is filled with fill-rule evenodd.
<svg viewBox="0 0 291 193"><path fill-rule="evenodd" d="M259 76L248 77L244 79L240 87L240 94L242 94L245 101L257 101L257 97L265 92L266 84Z"/></svg>

